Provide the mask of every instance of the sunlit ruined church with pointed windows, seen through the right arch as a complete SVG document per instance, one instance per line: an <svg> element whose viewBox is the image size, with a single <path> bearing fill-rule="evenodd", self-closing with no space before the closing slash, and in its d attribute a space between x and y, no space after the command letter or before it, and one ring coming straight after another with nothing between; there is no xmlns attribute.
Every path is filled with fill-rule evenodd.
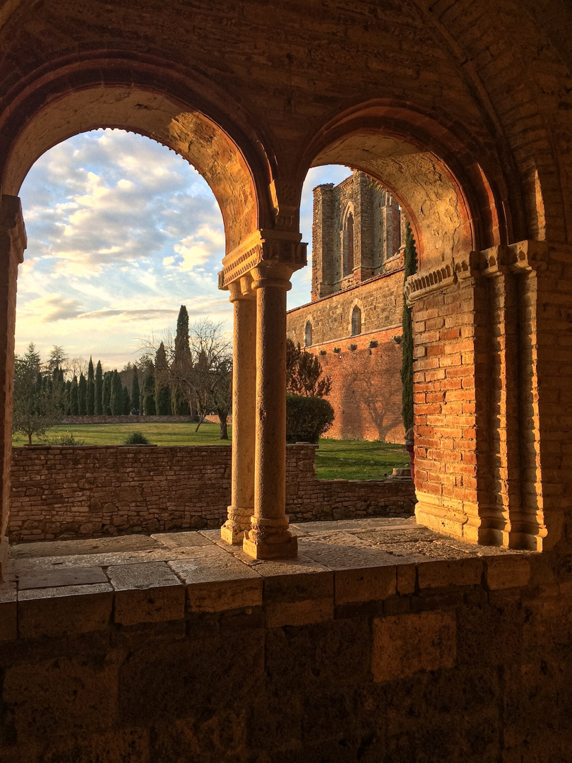
<svg viewBox="0 0 572 763"><path fill-rule="evenodd" d="M403 443L401 351L390 340L401 333L406 224L363 172L314 188L312 301L288 311L287 335L332 379L326 437Z"/></svg>

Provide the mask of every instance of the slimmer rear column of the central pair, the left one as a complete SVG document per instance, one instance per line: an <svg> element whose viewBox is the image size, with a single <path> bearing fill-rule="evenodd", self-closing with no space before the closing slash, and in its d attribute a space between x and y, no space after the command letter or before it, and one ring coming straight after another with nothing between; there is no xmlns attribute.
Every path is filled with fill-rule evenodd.
<svg viewBox="0 0 572 763"><path fill-rule="evenodd" d="M220 528L227 543L242 543L254 513L254 443L256 400L256 301L252 279L230 283L234 307L233 466L228 519Z"/></svg>

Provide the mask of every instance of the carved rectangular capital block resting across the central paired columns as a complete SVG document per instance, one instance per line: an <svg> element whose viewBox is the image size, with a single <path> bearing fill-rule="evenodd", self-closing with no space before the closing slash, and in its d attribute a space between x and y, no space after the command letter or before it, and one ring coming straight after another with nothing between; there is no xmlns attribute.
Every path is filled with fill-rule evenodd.
<svg viewBox="0 0 572 763"><path fill-rule="evenodd" d="M307 244L301 238L301 234L295 231L272 228L256 230L224 257L223 269L219 273L219 288L228 289L232 282L260 266L265 269L284 266L290 269L291 275L294 270L307 264ZM278 280L284 280L283 275L279 275Z"/></svg>

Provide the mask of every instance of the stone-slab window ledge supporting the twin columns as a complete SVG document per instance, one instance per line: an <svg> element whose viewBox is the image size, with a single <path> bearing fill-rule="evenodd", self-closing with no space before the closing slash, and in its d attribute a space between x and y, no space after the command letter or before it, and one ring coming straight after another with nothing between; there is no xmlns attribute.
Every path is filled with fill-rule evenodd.
<svg viewBox="0 0 572 763"><path fill-rule="evenodd" d="M78 636L242 610L266 627L403 612L442 588L488 596L529 584L533 552L440 536L412 519L291 526L299 559L262 562L219 530L14 545L0 641ZM262 616L262 620L260 617Z"/></svg>

